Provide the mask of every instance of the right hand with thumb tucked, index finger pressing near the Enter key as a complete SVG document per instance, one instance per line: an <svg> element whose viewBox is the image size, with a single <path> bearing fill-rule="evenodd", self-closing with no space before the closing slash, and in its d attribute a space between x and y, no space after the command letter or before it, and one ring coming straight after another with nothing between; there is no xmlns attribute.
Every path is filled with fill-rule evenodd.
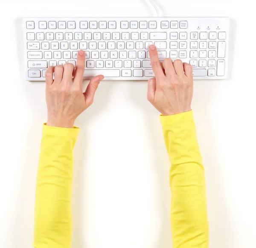
<svg viewBox="0 0 256 248"><path fill-rule="evenodd" d="M154 45L149 47L155 77L148 80L148 101L164 116L191 110L193 96L192 66L167 58L161 65ZM162 67L163 66L163 67Z"/></svg>

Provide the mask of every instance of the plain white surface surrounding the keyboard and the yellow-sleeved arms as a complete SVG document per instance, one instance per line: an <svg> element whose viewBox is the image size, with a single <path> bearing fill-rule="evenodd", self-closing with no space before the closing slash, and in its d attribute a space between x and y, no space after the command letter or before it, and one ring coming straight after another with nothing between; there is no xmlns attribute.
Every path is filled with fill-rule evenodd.
<svg viewBox="0 0 256 248"><path fill-rule="evenodd" d="M164 16L231 18L229 78L195 81L192 108L206 171L210 248L256 247L253 6L248 0L158 3ZM0 12L0 247L31 248L47 110L44 83L23 79L21 18L154 12L146 0L6 1ZM93 106L76 121L73 248L172 247L169 159L146 88L146 82L102 82Z"/></svg>

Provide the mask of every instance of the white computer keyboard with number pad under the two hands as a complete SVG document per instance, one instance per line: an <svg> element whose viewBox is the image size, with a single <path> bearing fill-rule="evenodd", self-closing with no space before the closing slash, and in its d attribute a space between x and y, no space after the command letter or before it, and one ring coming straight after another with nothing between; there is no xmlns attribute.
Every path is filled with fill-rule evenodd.
<svg viewBox="0 0 256 248"><path fill-rule="evenodd" d="M79 49L86 54L85 79L148 80L151 44L160 60L190 63L194 79L227 78L227 17L24 18L23 27L29 81L44 81L48 66L76 65Z"/></svg>

